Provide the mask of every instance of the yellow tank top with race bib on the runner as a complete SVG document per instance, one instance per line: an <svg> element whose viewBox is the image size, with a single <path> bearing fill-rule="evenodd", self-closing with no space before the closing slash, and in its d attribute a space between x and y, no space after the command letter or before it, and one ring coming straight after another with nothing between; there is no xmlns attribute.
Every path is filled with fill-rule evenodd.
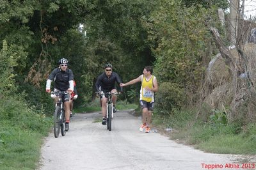
<svg viewBox="0 0 256 170"><path fill-rule="evenodd" d="M145 100L146 102L154 102L154 92L145 89L146 87L150 89L153 88L153 79L154 75L152 75L148 81L146 77L143 75L140 89L140 100Z"/></svg>

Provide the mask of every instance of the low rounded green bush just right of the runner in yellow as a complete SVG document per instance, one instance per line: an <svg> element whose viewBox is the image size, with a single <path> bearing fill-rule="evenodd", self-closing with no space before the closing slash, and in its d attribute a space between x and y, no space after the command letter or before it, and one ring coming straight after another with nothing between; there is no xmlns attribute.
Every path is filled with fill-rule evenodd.
<svg viewBox="0 0 256 170"><path fill-rule="evenodd" d="M185 102L184 89L172 82L162 82L156 94L157 114L170 115L174 108L180 109Z"/></svg>

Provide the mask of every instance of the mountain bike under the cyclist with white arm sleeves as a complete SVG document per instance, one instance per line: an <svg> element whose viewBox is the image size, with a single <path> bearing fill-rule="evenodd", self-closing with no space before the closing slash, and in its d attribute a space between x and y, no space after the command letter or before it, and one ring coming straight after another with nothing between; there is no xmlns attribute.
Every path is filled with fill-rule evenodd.
<svg viewBox="0 0 256 170"><path fill-rule="evenodd" d="M54 111L54 137L59 137L60 131L61 135L66 135L65 131L65 109L63 106L63 95L67 95L68 91L52 91L51 97L57 97L57 102L55 104L55 111Z"/></svg>

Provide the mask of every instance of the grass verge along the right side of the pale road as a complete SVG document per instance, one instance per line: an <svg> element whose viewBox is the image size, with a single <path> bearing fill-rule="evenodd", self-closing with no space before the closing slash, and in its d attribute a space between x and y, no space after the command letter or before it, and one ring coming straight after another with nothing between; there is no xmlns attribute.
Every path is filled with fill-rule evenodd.
<svg viewBox="0 0 256 170"><path fill-rule="evenodd" d="M168 117L156 115L153 125L170 139L193 145L210 153L256 154L255 123L241 126L237 123L204 122L195 111L173 111ZM166 132L166 128L172 129Z"/></svg>

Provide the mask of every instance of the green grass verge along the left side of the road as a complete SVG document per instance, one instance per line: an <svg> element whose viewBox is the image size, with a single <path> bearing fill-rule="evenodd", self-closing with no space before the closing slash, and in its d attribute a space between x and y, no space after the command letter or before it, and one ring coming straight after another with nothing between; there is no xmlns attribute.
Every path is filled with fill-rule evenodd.
<svg viewBox="0 0 256 170"><path fill-rule="evenodd" d="M0 103L0 169L36 169L52 118L15 98Z"/></svg>

